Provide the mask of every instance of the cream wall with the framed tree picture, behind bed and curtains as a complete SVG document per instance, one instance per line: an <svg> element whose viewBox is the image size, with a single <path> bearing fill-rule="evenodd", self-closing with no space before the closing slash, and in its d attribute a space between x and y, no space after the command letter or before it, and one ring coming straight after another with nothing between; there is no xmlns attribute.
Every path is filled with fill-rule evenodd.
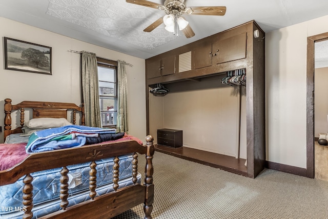
<svg viewBox="0 0 328 219"><path fill-rule="evenodd" d="M49 31L34 28L0 17L0 106L5 98L13 104L22 101L51 101L81 103L79 54L68 50L86 50L99 57L121 59L133 65L126 67L130 134L142 141L146 136L145 59L98 47ZM52 47L52 75L5 70L3 37L19 39ZM2 107L3 109L3 107ZM15 119L15 118L14 118ZM4 129L4 111L0 110L0 125ZM13 121L15 123L15 120ZM0 133L3 142L3 133Z"/></svg>

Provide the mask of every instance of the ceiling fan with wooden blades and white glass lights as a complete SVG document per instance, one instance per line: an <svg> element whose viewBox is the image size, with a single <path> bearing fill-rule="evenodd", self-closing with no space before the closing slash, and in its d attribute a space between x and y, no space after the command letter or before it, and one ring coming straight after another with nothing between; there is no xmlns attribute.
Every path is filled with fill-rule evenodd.
<svg viewBox="0 0 328 219"><path fill-rule="evenodd" d="M149 2L146 0L126 0L127 3L132 3L136 5L141 5L149 8L155 8L165 11L166 15L160 17L149 25L144 31L151 32L156 27L164 23L166 25L165 29L167 31L178 33L178 29L185 34L187 38L193 37L195 35L193 29L190 27L189 23L185 18L182 17L183 14L196 14L196 15L216 15L223 16L226 14L225 6L212 6L212 7L186 7L183 4L185 0L166 0L164 5Z"/></svg>

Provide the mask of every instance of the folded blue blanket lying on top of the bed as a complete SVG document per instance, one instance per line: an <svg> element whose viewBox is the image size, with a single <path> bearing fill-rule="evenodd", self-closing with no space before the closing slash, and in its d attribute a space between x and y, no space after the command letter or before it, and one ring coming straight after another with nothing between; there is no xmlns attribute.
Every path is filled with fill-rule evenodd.
<svg viewBox="0 0 328 219"><path fill-rule="evenodd" d="M80 147L85 145L87 137L98 137L98 134L105 133L116 133L116 129L68 125L36 131L29 137L26 153Z"/></svg>

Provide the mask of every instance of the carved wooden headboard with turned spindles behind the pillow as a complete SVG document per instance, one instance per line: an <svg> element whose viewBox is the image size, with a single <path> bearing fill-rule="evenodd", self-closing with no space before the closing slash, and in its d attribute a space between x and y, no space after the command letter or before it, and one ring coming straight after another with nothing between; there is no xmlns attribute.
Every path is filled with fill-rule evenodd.
<svg viewBox="0 0 328 219"><path fill-rule="evenodd" d="M32 109L33 118L51 117L51 118L66 118L68 112L72 112L72 124L76 123L76 111L80 113L80 124L85 125L84 104L81 107L72 103L56 103L56 102L37 102L23 101L19 104L12 105L11 99L5 99L5 130L4 138L9 134L22 133L22 127L25 122L25 109ZM20 110L20 127L11 130L11 113Z"/></svg>

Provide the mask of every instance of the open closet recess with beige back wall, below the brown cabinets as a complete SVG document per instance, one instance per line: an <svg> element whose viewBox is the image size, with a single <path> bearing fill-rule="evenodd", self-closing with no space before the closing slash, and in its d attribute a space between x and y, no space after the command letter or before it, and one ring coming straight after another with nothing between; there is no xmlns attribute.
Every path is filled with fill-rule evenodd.
<svg viewBox="0 0 328 219"><path fill-rule="evenodd" d="M163 96L150 87L151 133L183 130L183 147L157 151L247 175L245 69L192 79L164 84Z"/></svg>

